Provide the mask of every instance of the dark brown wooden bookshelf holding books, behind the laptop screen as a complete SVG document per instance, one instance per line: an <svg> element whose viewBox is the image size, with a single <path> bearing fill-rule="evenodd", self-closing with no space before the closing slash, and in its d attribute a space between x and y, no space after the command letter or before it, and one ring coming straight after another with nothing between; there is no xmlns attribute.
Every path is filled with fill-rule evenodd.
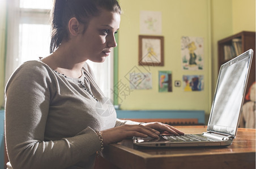
<svg viewBox="0 0 256 169"><path fill-rule="evenodd" d="M230 37L221 39L218 41L218 66L220 66L227 61L233 59L234 56L232 56L232 53L236 51L236 46L234 46L234 41L239 42L239 47L241 48L240 53L242 54L243 52L249 50L250 48L253 50L253 63L251 64L251 70L249 74L249 80L248 80L248 86L246 88L246 94L249 90L249 87L253 82L255 82L255 32L240 32L234 35L231 35ZM238 43L236 43L238 45ZM238 46L237 46L238 47ZM228 48L233 48L233 52L231 52L231 55L225 55L229 53L227 51ZM225 51L226 50L226 51ZM229 49L228 49L229 50ZM235 56L240 55L240 53L236 54Z"/></svg>

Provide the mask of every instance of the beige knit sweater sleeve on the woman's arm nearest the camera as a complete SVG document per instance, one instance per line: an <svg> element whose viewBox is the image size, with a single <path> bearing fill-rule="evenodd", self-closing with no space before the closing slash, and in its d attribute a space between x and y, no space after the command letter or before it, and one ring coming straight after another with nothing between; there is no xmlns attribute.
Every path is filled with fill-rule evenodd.
<svg viewBox="0 0 256 169"><path fill-rule="evenodd" d="M92 128L59 140L44 140L51 87L44 66L20 66L6 86L6 143L12 168L67 168L95 157L101 144ZM31 71L33 70L33 71Z"/></svg>

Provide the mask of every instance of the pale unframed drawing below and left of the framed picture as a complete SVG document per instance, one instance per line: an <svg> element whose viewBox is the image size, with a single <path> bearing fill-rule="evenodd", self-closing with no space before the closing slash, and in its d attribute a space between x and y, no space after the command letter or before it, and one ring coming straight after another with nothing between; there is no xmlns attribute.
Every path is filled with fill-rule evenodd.
<svg viewBox="0 0 256 169"><path fill-rule="evenodd" d="M131 90L148 90L152 88L151 73L130 73L130 89Z"/></svg>

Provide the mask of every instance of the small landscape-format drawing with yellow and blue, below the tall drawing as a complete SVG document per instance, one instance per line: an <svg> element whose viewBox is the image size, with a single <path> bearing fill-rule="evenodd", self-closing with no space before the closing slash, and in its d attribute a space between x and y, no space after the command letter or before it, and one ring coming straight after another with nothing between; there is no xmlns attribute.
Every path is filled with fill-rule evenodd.
<svg viewBox="0 0 256 169"><path fill-rule="evenodd" d="M203 75L184 75L184 91L203 91Z"/></svg>

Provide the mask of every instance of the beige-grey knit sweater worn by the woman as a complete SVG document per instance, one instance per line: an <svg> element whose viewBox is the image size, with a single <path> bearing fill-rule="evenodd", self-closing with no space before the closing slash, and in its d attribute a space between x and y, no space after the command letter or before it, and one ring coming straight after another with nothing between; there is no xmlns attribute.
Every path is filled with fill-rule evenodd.
<svg viewBox="0 0 256 169"><path fill-rule="evenodd" d="M87 64L83 72L65 77L40 60L15 70L6 86L8 168L93 168L95 130L136 124L117 119Z"/></svg>

